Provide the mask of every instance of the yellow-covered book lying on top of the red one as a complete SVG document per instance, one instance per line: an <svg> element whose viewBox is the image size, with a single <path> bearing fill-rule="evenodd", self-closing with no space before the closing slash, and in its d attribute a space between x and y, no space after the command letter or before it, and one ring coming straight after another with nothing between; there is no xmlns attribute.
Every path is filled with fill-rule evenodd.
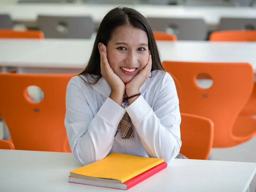
<svg viewBox="0 0 256 192"><path fill-rule="evenodd" d="M163 162L163 159L158 158L112 153L102 160L71 171L70 176L124 183Z"/></svg>

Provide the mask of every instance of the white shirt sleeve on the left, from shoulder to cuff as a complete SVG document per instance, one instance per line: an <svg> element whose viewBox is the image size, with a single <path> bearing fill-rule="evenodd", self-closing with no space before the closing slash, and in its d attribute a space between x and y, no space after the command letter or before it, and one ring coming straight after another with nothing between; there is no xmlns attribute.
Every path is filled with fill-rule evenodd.
<svg viewBox="0 0 256 192"><path fill-rule="evenodd" d="M108 155L125 109L108 97L93 117L84 95L92 90L88 87L83 91L79 85L77 79L71 79L67 85L64 123L73 155L87 165Z"/></svg>

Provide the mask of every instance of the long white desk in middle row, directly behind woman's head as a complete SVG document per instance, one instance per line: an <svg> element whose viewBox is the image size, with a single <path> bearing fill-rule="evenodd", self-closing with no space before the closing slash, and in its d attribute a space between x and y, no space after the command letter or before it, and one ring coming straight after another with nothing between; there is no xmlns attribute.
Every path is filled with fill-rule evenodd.
<svg viewBox="0 0 256 192"><path fill-rule="evenodd" d="M158 41L162 61L248 62L256 73L256 43ZM79 73L90 57L93 40L0 40L0 67L18 73Z"/></svg>

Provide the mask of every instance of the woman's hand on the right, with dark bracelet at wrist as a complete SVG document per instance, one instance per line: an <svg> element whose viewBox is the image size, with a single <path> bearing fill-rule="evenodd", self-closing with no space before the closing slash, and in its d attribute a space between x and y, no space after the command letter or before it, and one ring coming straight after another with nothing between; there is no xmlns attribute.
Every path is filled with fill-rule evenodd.
<svg viewBox="0 0 256 192"><path fill-rule="evenodd" d="M137 93L140 93L140 87L148 79L149 73L152 67L152 58L151 54L148 56L148 63L145 67L138 73L129 83L125 85L125 93L128 97L133 96ZM128 99L129 105L133 103L139 96Z"/></svg>

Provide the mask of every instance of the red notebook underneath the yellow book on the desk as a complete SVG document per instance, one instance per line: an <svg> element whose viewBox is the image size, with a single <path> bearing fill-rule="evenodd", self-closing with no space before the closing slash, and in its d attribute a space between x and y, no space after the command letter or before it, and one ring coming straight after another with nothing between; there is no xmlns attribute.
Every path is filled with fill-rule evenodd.
<svg viewBox="0 0 256 192"><path fill-rule="evenodd" d="M167 167L167 163L163 162L151 169L148 169L148 171L145 171L142 174L126 181L125 183L108 183L108 182L103 182L103 181L87 180L87 179L83 179L83 178L79 178L79 177L72 177L72 176L69 176L69 182L84 184L84 185L102 186L102 187L108 187L108 188L113 188L113 189L127 190L127 189L130 189L132 186L135 186L138 183L142 182L143 180L147 179L148 177L151 177L152 175L156 174L157 172L160 172L161 170L165 169L166 167Z"/></svg>

